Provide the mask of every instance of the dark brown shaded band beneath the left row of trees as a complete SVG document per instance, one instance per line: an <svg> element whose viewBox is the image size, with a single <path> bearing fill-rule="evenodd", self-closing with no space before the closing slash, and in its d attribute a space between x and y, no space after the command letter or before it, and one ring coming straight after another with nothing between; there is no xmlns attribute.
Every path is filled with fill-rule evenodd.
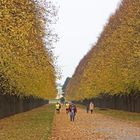
<svg viewBox="0 0 140 140"><path fill-rule="evenodd" d="M16 95L0 94L0 118L28 111L47 103L48 100L34 98L33 96L20 98Z"/></svg>

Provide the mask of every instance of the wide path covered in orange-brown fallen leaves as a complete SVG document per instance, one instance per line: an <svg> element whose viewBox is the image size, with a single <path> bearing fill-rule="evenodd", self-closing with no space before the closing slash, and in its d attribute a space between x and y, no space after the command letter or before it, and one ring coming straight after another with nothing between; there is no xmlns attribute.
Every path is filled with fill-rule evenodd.
<svg viewBox="0 0 140 140"><path fill-rule="evenodd" d="M140 126L102 114L87 114L81 108L75 122L70 122L63 107L55 115L49 140L140 140Z"/></svg>

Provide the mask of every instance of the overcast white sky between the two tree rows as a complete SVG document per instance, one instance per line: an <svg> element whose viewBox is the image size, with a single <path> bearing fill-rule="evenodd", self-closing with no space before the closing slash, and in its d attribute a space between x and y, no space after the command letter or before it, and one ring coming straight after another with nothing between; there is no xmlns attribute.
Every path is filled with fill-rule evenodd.
<svg viewBox="0 0 140 140"><path fill-rule="evenodd" d="M121 0L53 0L60 6L55 30L60 38L55 56L64 83L71 77L80 60L96 43L103 27Z"/></svg>

